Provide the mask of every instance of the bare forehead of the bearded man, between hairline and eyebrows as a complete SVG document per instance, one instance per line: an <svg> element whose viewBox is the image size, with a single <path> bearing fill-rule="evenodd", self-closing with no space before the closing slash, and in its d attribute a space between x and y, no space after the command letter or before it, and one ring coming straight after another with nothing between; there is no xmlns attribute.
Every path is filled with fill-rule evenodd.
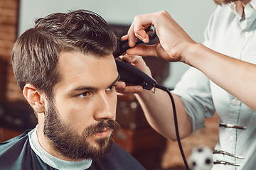
<svg viewBox="0 0 256 170"><path fill-rule="evenodd" d="M117 67L112 55L95 57L79 52L62 52L58 71L66 86L96 86L112 84L117 79Z"/></svg>

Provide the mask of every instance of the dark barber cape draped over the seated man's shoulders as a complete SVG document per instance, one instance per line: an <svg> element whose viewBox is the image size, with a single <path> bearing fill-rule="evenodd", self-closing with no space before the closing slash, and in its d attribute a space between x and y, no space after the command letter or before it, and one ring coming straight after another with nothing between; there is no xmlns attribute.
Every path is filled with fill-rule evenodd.
<svg viewBox="0 0 256 170"><path fill-rule="evenodd" d="M52 170L33 151L28 141L28 131L18 137L0 144L0 170ZM122 147L113 145L110 154L106 154L98 160L92 160L92 165L87 170L95 169L144 169L136 159L134 159Z"/></svg>

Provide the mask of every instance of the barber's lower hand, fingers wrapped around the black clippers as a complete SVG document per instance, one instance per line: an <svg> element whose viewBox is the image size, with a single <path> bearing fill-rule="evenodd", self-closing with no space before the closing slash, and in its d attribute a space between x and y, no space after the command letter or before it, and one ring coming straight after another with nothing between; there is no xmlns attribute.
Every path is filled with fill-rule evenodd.
<svg viewBox="0 0 256 170"><path fill-rule="evenodd" d="M149 77L152 77L149 67L146 66L146 63L144 62L141 56L124 55L122 57L122 60L131 63L132 65L140 69L142 72L149 75ZM143 88L142 86L128 86L123 81L118 81L116 85L116 90L119 94L139 94L143 91Z"/></svg>

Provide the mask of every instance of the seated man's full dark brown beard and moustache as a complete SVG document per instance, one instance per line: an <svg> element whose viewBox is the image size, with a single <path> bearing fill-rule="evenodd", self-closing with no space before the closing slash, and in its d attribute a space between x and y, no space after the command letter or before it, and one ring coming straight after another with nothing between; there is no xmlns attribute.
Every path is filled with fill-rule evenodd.
<svg viewBox="0 0 256 170"><path fill-rule="evenodd" d="M102 132L105 128L115 130L119 128L119 124L114 120L102 120L95 125L88 126L83 130L82 135L78 135L75 130L72 130L63 120L60 120L53 101L49 101L43 132L53 142L53 149L65 157L71 159L99 159L109 153L113 144L112 134L110 137L100 138L92 142L87 141L88 137L96 132Z"/></svg>

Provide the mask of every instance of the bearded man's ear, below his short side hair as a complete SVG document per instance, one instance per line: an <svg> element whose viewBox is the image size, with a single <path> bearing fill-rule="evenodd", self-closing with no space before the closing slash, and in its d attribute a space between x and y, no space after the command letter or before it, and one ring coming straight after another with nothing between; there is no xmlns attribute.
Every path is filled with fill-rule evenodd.
<svg viewBox="0 0 256 170"><path fill-rule="evenodd" d="M23 95L36 113L45 112L45 95L36 89L33 84L26 84L24 86Z"/></svg>

